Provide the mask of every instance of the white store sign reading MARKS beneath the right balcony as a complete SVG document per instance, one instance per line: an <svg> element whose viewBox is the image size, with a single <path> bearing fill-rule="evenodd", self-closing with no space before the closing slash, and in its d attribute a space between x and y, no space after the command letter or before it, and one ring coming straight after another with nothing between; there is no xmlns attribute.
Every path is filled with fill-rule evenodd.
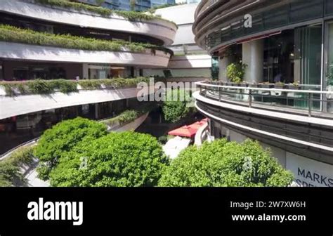
<svg viewBox="0 0 333 236"><path fill-rule="evenodd" d="M333 165L287 153L286 167L303 187L333 187Z"/></svg>

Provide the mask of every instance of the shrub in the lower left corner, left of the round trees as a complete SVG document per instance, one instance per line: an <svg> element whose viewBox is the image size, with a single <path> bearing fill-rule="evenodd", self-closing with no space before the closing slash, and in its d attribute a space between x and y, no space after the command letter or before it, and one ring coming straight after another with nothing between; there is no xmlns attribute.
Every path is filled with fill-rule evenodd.
<svg viewBox="0 0 333 236"><path fill-rule="evenodd" d="M30 164L33 159L32 147L20 147L13 154L0 162L0 187L9 187L24 183L21 164Z"/></svg>

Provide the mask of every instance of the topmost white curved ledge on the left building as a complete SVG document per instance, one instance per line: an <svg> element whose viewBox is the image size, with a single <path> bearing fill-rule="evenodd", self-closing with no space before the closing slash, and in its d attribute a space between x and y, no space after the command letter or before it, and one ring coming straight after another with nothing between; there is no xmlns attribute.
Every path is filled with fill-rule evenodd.
<svg viewBox="0 0 333 236"><path fill-rule="evenodd" d="M31 1L0 0L0 11L79 27L148 35L164 41L164 45L173 44L177 31L174 23L162 19L130 21L118 15L103 17L86 11L33 4Z"/></svg>

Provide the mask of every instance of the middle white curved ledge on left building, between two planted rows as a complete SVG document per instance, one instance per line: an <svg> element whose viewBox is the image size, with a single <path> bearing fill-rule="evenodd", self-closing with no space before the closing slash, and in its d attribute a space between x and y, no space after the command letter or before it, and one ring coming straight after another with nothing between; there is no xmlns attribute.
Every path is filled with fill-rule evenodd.
<svg viewBox="0 0 333 236"><path fill-rule="evenodd" d="M141 65L143 67L166 67L169 53L150 50L143 53L129 51L84 51L79 49L37 46L0 41L0 58L67 62L67 63L110 63L113 65Z"/></svg>

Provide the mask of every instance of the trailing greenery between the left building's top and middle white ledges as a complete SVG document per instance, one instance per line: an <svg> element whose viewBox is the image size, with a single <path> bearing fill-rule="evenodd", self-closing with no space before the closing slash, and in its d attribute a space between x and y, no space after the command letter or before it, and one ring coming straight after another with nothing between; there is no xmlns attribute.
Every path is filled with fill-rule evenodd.
<svg viewBox="0 0 333 236"><path fill-rule="evenodd" d="M56 46L61 48L89 51L131 51L142 53L147 49L150 49L152 53L159 50L164 51L164 53L169 53L170 55L173 54L169 48L153 44L93 39L72 36L70 34L49 34L46 32L36 32L31 29L21 29L11 25L0 25L0 41L11 41L41 46Z"/></svg>

